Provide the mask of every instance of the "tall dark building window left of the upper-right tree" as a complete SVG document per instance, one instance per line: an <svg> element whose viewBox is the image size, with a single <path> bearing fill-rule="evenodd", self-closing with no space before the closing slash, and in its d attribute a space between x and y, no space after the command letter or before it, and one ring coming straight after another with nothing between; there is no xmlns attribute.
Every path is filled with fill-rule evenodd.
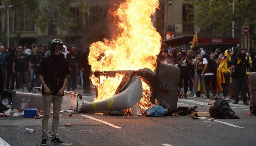
<svg viewBox="0 0 256 146"><path fill-rule="evenodd" d="M182 26L183 32L194 32L194 26L192 21L194 19L194 14L192 14L193 5L184 4L182 5Z"/></svg>

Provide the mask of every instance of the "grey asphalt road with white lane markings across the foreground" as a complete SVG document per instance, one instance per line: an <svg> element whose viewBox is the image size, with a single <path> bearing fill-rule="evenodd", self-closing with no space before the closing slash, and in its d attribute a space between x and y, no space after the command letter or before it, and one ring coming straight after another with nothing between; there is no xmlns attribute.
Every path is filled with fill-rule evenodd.
<svg viewBox="0 0 256 146"><path fill-rule="evenodd" d="M197 105L197 111L208 112L210 105L207 103L214 102L193 98L192 95L188 97L178 100L178 106ZM83 99L91 101L92 96L86 95ZM79 104L82 104L81 100ZM204 106L200 107L200 104ZM188 116L149 118L82 113L69 117L69 113L62 113L59 138L72 146L255 146L256 115L246 116L250 112L249 106L242 102L230 106L241 119L215 119L212 122L210 117L208 120L193 120ZM65 123L72 123L72 126L65 127ZM49 124L51 131L52 115ZM36 132L26 134L25 128ZM0 117L0 146L4 145L3 142L6 146L39 146L41 119ZM48 145L51 145L49 141Z"/></svg>

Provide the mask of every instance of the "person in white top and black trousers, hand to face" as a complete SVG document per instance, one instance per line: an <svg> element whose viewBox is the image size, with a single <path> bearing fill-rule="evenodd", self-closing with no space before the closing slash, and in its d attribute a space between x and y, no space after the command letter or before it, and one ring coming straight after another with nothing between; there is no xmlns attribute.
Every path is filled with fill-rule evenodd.
<svg viewBox="0 0 256 146"><path fill-rule="evenodd" d="M204 64L204 69L201 74L201 76L204 76L204 87L206 89L206 97L204 99L206 100L210 99L210 95L209 95L210 90L213 94L212 99L215 99L216 97L218 97L218 94L211 87L211 79L214 77L214 73L211 72L211 68L210 68L210 61L211 61L210 55L206 54L203 50L201 50L200 56L203 58L203 64Z"/></svg>

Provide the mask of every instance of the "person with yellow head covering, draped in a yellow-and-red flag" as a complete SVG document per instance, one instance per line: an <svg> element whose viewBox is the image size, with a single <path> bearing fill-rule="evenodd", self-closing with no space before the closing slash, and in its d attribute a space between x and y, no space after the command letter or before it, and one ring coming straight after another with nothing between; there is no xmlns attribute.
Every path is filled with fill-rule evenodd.
<svg viewBox="0 0 256 146"><path fill-rule="evenodd" d="M223 85L223 96L224 99L230 100L230 98L227 96L227 90L229 88L230 83L230 74L231 70L229 69L228 63L231 61L231 52L229 50L225 51L225 55L221 59L221 62L219 64L219 68L217 71L217 77L219 77L221 84Z"/></svg>

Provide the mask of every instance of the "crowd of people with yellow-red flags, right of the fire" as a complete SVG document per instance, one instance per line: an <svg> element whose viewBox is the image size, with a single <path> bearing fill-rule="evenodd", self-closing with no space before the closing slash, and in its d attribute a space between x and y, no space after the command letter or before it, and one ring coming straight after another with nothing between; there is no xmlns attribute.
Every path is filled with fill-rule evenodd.
<svg viewBox="0 0 256 146"><path fill-rule="evenodd" d="M223 52L217 48L214 52L210 50L206 53L198 44L191 49L167 50L163 47L161 50L158 56L160 60L180 69L179 98L193 94L193 97L211 100L223 92L223 97L219 98L233 98L233 104L238 104L242 99L245 105L249 104L248 76L250 72L256 72L255 51L236 46ZM181 88L184 88L184 92Z"/></svg>

